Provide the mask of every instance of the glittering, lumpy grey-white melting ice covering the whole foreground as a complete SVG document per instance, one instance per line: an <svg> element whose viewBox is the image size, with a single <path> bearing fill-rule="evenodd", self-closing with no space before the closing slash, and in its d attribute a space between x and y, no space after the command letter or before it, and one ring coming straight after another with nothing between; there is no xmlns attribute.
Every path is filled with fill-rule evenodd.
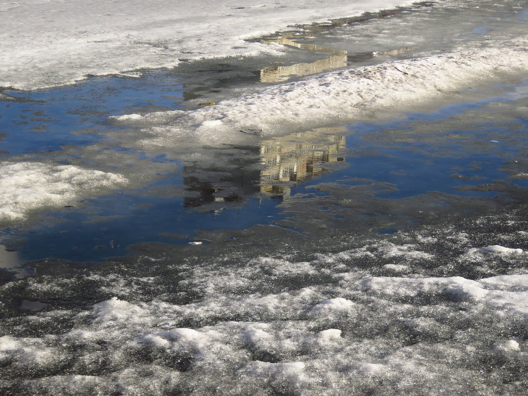
<svg viewBox="0 0 528 396"><path fill-rule="evenodd" d="M104 266L35 263L46 275L4 285L4 313L43 295L56 308L4 319L2 385L34 395L521 395L528 256L487 244L526 248L525 209L383 240L323 237L319 253L295 233L257 228L199 255L145 245ZM274 257L248 258L259 251Z"/></svg>

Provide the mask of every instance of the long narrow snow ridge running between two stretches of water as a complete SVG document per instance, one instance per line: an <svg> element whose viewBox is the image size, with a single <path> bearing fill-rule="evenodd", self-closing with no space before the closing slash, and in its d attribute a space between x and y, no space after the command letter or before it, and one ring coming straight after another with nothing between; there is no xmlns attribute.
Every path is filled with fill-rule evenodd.
<svg viewBox="0 0 528 396"><path fill-rule="evenodd" d="M528 70L526 36L423 58L385 62L318 74L187 112L115 116L120 124L142 126L142 144L166 145L183 138L216 144L257 135L284 134L285 127L313 128L351 121L366 112L405 106L501 73Z"/></svg>

